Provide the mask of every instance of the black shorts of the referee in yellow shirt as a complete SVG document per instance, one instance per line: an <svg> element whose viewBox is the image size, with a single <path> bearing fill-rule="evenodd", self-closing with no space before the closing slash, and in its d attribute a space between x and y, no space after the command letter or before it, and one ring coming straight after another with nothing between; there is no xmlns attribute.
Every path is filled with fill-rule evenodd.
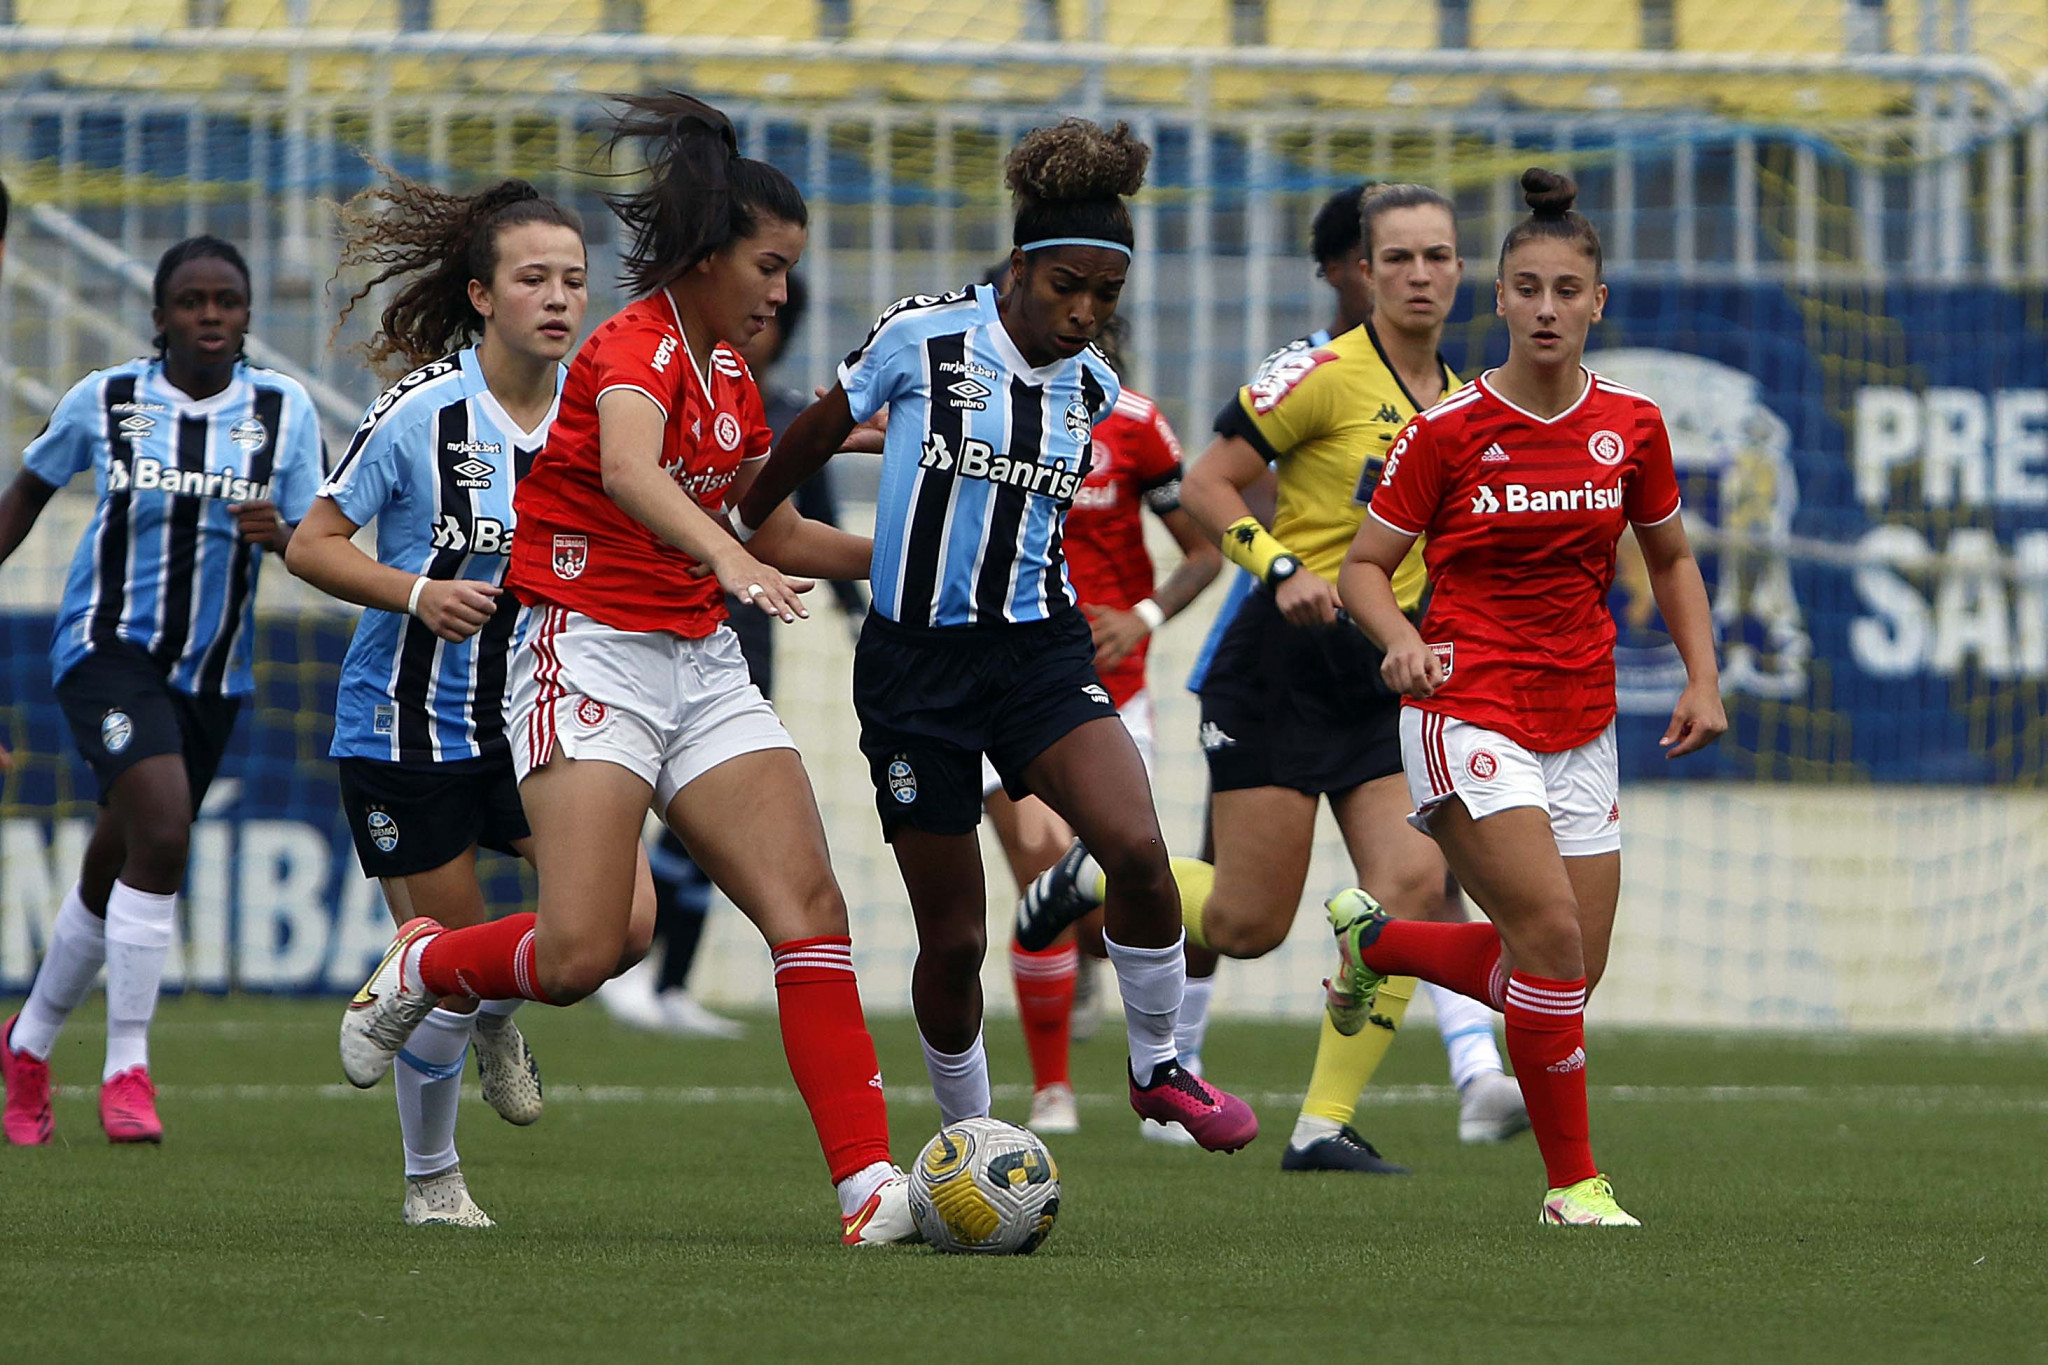
<svg viewBox="0 0 2048 1365"><path fill-rule="evenodd" d="M1202 681L1208 786L1348 792L1401 772L1401 698L1350 620L1296 626L1255 587Z"/></svg>

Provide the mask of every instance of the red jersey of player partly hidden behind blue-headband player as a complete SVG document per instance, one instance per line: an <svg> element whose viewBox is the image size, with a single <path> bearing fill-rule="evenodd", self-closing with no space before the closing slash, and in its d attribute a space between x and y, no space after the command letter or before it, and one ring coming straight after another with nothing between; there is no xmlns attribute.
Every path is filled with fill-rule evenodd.
<svg viewBox="0 0 2048 1365"><path fill-rule="evenodd" d="M1139 503L1161 516L1180 505L1180 442L1159 407L1124 389L1116 407L1096 426L1087 481L1073 495L1061 544L1067 581L1081 606L1128 612L1151 596L1153 567L1145 553ZM1151 636L1102 673L1110 700L1122 706L1145 690L1145 653Z"/></svg>

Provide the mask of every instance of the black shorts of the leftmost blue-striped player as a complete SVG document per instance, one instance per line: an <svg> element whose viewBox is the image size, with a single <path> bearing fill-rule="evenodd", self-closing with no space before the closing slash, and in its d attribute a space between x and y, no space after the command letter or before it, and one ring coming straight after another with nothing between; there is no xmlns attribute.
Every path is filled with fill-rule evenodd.
<svg viewBox="0 0 2048 1365"><path fill-rule="evenodd" d="M180 753L197 817L221 769L242 700L180 692L170 686L150 651L131 641L113 641L96 645L57 679L57 706L72 726L78 753L98 778L102 806L115 778L129 767Z"/></svg>

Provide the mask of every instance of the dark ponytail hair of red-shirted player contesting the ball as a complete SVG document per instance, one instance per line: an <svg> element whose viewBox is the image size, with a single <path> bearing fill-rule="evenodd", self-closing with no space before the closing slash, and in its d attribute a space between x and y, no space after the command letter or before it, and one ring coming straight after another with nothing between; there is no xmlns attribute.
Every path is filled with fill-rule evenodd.
<svg viewBox="0 0 2048 1365"><path fill-rule="evenodd" d="M739 156L733 121L711 104L668 90L612 96L610 137L641 143L647 184L604 203L627 229L627 289L651 295L719 248L752 237L764 219L809 227L797 184L768 162ZM629 174L629 172L614 172Z"/></svg>

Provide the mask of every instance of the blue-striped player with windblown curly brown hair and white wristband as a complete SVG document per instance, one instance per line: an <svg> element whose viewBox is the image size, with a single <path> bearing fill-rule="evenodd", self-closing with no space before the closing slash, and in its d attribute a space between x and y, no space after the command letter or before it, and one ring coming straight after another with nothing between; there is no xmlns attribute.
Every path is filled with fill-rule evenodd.
<svg viewBox="0 0 2048 1365"><path fill-rule="evenodd" d="M561 362L584 325L588 252L580 219L524 180L449 194L387 172L344 221L342 268L381 270L342 315L401 282L369 358L410 372L362 417L289 563L367 608L342 661L330 749L365 874L399 923L483 923L477 847L532 853L506 741L520 606L504 573L512 493L547 444ZM352 540L371 520L375 559ZM647 884L639 952L651 917ZM471 1044L485 1101L512 1124L541 1117L518 1005L444 999L399 1054L406 1224L492 1226L469 1195L455 1117Z"/></svg>

